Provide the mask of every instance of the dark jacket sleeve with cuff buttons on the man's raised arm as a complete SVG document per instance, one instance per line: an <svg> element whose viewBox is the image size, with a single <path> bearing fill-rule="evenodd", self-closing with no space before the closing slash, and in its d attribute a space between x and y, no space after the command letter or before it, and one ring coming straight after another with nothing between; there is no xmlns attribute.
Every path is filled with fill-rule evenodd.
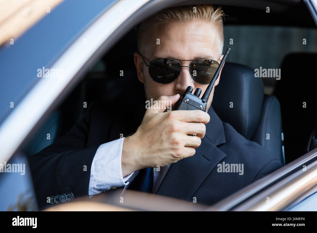
<svg viewBox="0 0 317 233"><path fill-rule="evenodd" d="M91 164L100 145L87 147L92 103L83 119L50 146L29 156L29 166L39 209L51 206L50 196L88 195ZM87 197L88 198L88 197Z"/></svg>

